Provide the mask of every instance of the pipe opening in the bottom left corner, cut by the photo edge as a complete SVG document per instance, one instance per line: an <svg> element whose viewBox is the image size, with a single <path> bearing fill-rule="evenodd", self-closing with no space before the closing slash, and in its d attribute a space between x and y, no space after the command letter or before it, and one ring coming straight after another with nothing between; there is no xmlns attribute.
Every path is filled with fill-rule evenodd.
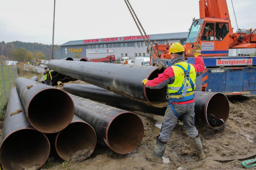
<svg viewBox="0 0 256 170"><path fill-rule="evenodd" d="M39 169L48 159L50 144L44 134L22 129L2 143L0 161L5 169Z"/></svg>

